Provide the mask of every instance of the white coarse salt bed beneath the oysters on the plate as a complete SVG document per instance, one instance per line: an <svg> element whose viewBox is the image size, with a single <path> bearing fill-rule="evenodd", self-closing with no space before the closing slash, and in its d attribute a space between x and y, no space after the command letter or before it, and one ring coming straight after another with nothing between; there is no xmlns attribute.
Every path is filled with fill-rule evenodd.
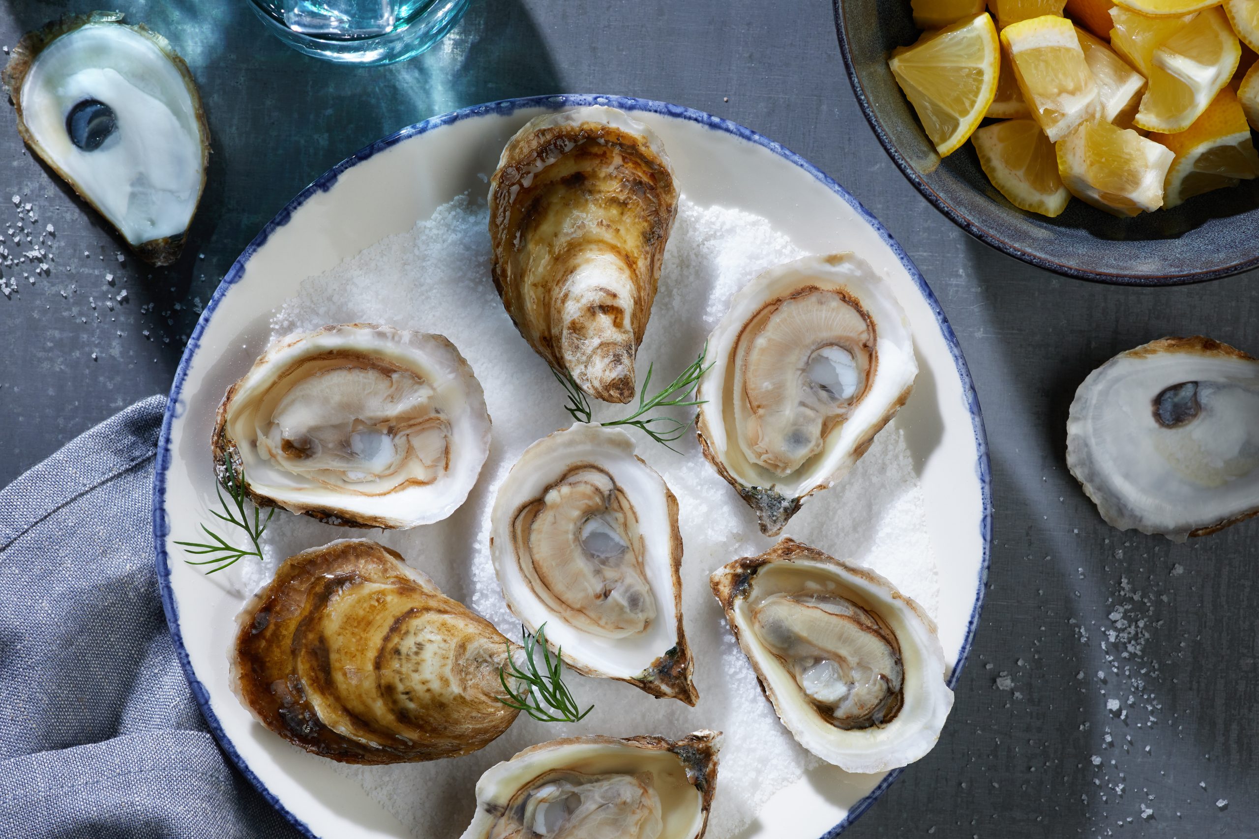
<svg viewBox="0 0 1259 839"><path fill-rule="evenodd" d="M730 297L758 273L803 255L764 219L682 197L661 272L651 321L638 352L640 385L648 365L653 384L672 377L699 355ZM519 639L490 561L494 493L520 453L565 428L564 394L546 364L520 337L490 282L490 239L483 203L461 196L409 233L390 236L336 268L302 283L272 322L273 337L329 323L388 323L438 332L471 364L486 395L494 436L476 488L453 516L410 531L346 531L305 516L277 513L266 535L263 564L232 569L242 595L263 585L276 565L334 538L366 536L399 551L442 590ZM596 420L628 413L596 403ZM681 414L679 416L682 416ZM638 455L677 496L684 542L682 611L695 659L700 701L694 708L656 699L611 679L569 672L567 683L584 707L579 723L540 723L521 714L486 748L451 760L395 766L342 766L408 826L414 836L453 836L472 818L476 781L494 764L546 740L575 735L662 735L723 731L718 791L708 835L747 831L764 803L820 761L778 721L708 585L709 574L773 540L755 516L700 455L694 435L679 453L632 431ZM786 530L836 557L869 565L937 614L937 569L927 536L923 494L894 420L835 488L810 498ZM311 760L321 760L311 757ZM837 771L837 770L836 770Z"/></svg>

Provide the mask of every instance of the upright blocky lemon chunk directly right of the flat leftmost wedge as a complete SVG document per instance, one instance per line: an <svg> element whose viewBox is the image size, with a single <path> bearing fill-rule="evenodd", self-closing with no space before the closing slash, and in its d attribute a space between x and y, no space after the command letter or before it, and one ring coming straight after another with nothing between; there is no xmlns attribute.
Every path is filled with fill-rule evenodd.
<svg viewBox="0 0 1259 839"><path fill-rule="evenodd" d="M1021 20L1001 30L1001 43L1032 117L1051 142L1102 114L1098 87L1070 20L1054 15Z"/></svg>

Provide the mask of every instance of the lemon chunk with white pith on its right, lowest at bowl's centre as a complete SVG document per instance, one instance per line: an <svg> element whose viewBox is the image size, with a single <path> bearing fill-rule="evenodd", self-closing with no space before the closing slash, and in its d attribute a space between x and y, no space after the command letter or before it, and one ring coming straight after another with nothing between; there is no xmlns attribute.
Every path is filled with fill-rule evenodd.
<svg viewBox="0 0 1259 839"><path fill-rule="evenodd" d="M1157 210L1176 156L1131 128L1085 122L1056 146L1058 171L1075 197L1118 216Z"/></svg>

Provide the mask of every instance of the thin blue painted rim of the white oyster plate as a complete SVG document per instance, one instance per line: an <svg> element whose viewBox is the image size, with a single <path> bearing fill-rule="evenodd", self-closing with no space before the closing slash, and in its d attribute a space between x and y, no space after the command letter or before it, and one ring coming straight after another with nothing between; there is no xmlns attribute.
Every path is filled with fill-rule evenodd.
<svg viewBox="0 0 1259 839"><path fill-rule="evenodd" d="M909 277L914 281L918 287L919 293L930 306L932 313L935 316L935 321L940 327L940 332L944 336L944 342L948 343L949 352L953 356L953 365L957 367L958 376L962 380L962 396L966 400L967 409L971 414L971 425L974 430L974 448L978 454L976 462L976 474L980 479L980 496L982 501L982 516L980 522L981 537L983 541L983 556L980 561L980 577L977 580L974 606L971 610L971 618L966 625L966 636L962 642L962 649L958 652L957 664L953 665L953 672L949 674L948 686L953 688L957 686L957 681L962 674L962 668L966 664L966 659L971 653L971 644L974 642L974 631L980 624L980 611L983 608L983 594L987 587L988 580L988 555L992 543L992 472L991 464L988 462L988 440L983 430L983 414L980 410L980 399L974 392L974 381L971 379L971 370L966 365L966 358L962 357L962 347L958 345L957 335L953 332L953 327L949 326L948 319L944 317L943 309L940 309L939 301L935 299L935 294L927 286L927 281L923 279L922 273L918 270L917 265L909 259L904 249L891 238L886 228L875 219L869 210L866 210L861 204L852 197L847 190L835 182L830 176L822 172L820 169L813 166L811 162L797 155L796 152L786 148L781 143L774 142L762 135L745 128L737 122L730 122L729 119L723 119L721 117L715 117L704 111L696 111L694 108L687 108L680 104L670 104L667 102L657 102L655 99L638 99L633 97L623 96L604 96L596 93L567 93L555 96L535 96L520 99L501 99L499 102L490 102L486 104L476 104L470 108L461 108L458 111L451 111L449 113L443 113L438 117L432 117L418 122L413 126L407 126L400 131L397 131L383 140L365 146L356 153L346 157L340 164L327 170L319 179L315 180L310 186L303 189L297 194L292 201L290 201L285 208L276 214L271 221L268 221L262 231L254 236L240 257L232 264L228 273L223 277L223 282L214 291L214 296L210 302L205 306L205 311L201 312L200 319L196 322L196 327L193 330L193 335L188 340L188 345L184 347L184 355L179 360L179 367L175 370L175 381L170 389L170 396L166 399L166 411L162 416L161 424L161 438L157 442L157 458L154 469L154 496L152 496L152 518L154 518L154 548L156 551L156 566L157 566L157 585L161 590L161 605L162 610L166 613L166 624L170 626L171 640L175 647L175 655L179 658L180 667L184 668L184 675L188 678L189 687L193 691L193 697L196 699L196 704L201 709L201 716L205 717L205 722L210 731L214 733L214 738L218 740L219 746L227 752L228 757L235 765L240 774L248 779L248 781L262 794L271 806L283 815L295 828L301 830L305 835L311 836L311 839L319 839L319 834L310 829L310 826L298 819L293 813L286 808L279 799L267 789L266 784L262 782L249 765L237 751L232 740L223 731L223 726L219 718L215 716L214 711L210 708L210 696L201 684L201 681L196 678L196 673L193 670L193 663L188 655L188 648L184 647L184 636L179 628L179 606L175 605L174 591L170 585L170 557L166 555L166 537L170 533L170 526L166 522L166 473L170 469L171 452L170 452L170 429L171 424L183 414L180 408L179 397L184 390L184 381L188 377L188 371L191 367L193 358L196 356L196 350L200 346L201 335L210 323L210 318L214 311L218 308L219 303L227 296L228 291L235 286L240 277L244 274L246 265L249 259L259 248L262 248L271 234L277 229L288 224L292 219L293 213L301 208L312 195L317 192L326 192L336 184L341 172L347 169L369 160L374 155L390 148L399 142L410 140L423 133L428 133L434 128L441 128L442 126L452 125L462 119L470 119L473 117L490 117L490 116L510 116L515 111L521 108L549 108L559 109L565 107L584 107L592 104L611 106L613 108L619 108L622 111L647 111L650 113L656 113L660 116L674 117L677 119L686 119L689 122L696 122L699 125L706 126L714 131L723 131L729 135L747 140L748 142L755 143L772 151L783 160L787 160L796 166L801 167L820 182L822 182L827 189L844 199L849 206L851 206L861 219L869 224L875 233L886 243L891 252L900 260L900 264L909 273ZM862 797L860 801L849 808L847 814L844 819L831 828L822 839L833 839L841 831L844 831L854 820L856 820L862 813L870 809L870 805L883 795L891 782L895 781L904 769L896 769L889 772L869 795Z"/></svg>

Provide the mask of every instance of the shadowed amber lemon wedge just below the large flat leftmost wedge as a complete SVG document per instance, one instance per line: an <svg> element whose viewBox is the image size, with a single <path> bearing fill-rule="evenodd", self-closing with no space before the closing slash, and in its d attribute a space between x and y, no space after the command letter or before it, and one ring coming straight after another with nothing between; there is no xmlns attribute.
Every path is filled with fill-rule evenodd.
<svg viewBox="0 0 1259 839"><path fill-rule="evenodd" d="M1035 119L1006 119L971 136L980 166L992 185L1021 210L1054 218L1071 194L1058 174L1054 143Z"/></svg>

